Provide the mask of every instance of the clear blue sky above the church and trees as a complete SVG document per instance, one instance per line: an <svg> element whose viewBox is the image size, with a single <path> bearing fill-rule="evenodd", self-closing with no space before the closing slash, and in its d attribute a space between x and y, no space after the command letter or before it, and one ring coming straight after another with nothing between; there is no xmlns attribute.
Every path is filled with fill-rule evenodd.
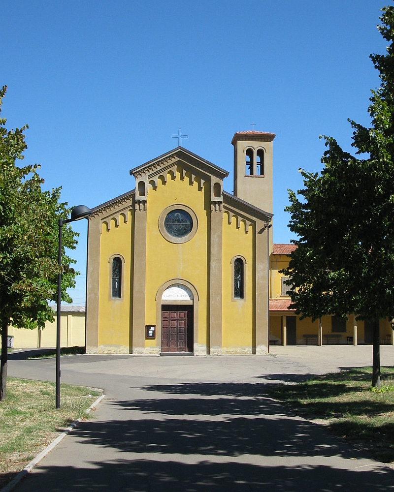
<svg viewBox="0 0 394 492"><path fill-rule="evenodd" d="M319 171L320 134L351 150L379 85L370 53L386 0L18 1L1 6L7 127L29 124L26 163L70 205L134 187L129 170L182 145L230 171L236 131L276 133L274 241L292 239L287 189ZM84 304L86 221L73 252Z"/></svg>

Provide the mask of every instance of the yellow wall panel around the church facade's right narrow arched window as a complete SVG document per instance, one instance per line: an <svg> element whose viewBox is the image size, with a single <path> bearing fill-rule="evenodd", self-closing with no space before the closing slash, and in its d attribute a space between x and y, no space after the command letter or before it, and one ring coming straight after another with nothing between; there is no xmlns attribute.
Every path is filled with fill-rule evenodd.
<svg viewBox="0 0 394 492"><path fill-rule="evenodd" d="M252 353L254 320L254 239L255 228L240 221L237 229L236 217L229 224L229 213L223 214L223 297L222 297L222 351L223 353ZM234 256L245 258L244 299L232 300L233 273L231 260Z"/></svg>

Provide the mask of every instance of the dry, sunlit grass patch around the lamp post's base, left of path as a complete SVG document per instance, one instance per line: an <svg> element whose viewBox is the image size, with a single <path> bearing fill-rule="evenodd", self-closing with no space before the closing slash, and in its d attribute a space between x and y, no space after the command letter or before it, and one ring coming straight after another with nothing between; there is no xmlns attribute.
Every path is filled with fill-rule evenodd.
<svg viewBox="0 0 394 492"><path fill-rule="evenodd" d="M7 379L7 400L0 401L0 489L70 423L86 419L86 409L101 392L61 385L55 409L55 384Z"/></svg>

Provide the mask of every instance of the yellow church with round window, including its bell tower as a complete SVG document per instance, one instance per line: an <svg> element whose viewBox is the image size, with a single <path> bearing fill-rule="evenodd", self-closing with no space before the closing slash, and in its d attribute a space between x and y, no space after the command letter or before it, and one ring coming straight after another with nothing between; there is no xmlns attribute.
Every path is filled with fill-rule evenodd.
<svg viewBox="0 0 394 492"><path fill-rule="evenodd" d="M235 133L233 194L228 171L177 147L93 209L87 353L267 352L274 137Z"/></svg>

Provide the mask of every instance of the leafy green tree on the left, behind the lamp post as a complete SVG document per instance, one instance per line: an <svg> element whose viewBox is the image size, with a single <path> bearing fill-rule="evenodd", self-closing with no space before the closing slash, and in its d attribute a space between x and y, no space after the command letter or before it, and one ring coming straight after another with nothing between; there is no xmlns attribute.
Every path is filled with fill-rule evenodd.
<svg viewBox="0 0 394 492"><path fill-rule="evenodd" d="M2 98L7 87L0 90ZM0 118L0 400L6 398L8 326L44 327L53 320L48 301L56 301L58 266L58 220L69 209L59 203L61 188L43 191L38 165L16 166L27 148L28 126L7 131ZM65 254L74 249L77 234L70 226L63 232L62 300L71 302L67 287L75 285L74 260Z"/></svg>

